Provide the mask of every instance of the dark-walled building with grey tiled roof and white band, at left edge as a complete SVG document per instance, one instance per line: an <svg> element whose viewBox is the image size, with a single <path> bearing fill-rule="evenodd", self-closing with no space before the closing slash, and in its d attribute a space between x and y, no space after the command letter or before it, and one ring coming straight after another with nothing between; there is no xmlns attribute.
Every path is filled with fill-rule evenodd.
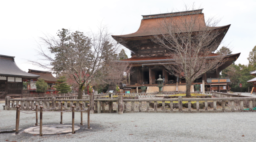
<svg viewBox="0 0 256 142"><path fill-rule="evenodd" d="M14 61L15 57L0 55L0 99L6 96L22 98L23 80L37 79L40 75L22 71Z"/></svg>

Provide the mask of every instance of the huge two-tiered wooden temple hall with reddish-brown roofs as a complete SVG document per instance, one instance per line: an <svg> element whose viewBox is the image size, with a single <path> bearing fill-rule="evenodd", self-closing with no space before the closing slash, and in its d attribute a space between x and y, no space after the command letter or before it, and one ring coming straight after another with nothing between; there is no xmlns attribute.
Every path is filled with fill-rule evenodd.
<svg viewBox="0 0 256 142"><path fill-rule="evenodd" d="M117 42L131 50L131 58L118 61L129 62L134 71L128 80L128 85L121 88L133 93L140 92L140 86L145 85L147 86L146 92L158 92L156 80L158 79L158 76L161 75L164 80L163 92L186 91L186 80L169 74L164 67L166 64L172 64L172 62L175 60L170 56L170 51L167 48L154 43L151 39L155 35L158 35L156 29L161 29L159 21L163 20L164 18L177 17L176 19L179 19L181 16L184 16L187 18L187 20L189 20L189 18L196 17L198 18L198 21L205 23L204 13L202 13L202 10L203 9L165 14L142 15L143 19L141 20L138 31L132 34L112 35ZM230 25L212 28L221 31L221 34L216 38L216 40L219 40L219 43L221 43L221 40L223 40L228 29L230 28ZM194 29L194 31L200 32L198 29ZM217 50L217 48L215 50ZM209 59L214 58L216 55L217 54L212 53ZM224 68L227 68L234 61L236 61L239 56L240 53L228 54L223 61L225 62L223 65L221 65L215 71L207 72L203 74L202 77L196 79L192 83L191 91L195 91L194 85L202 84L202 80L205 82L205 91L210 91L211 88L210 84L207 83L207 79L219 78L219 73ZM228 86L225 88L227 89L224 90L224 92L229 91Z"/></svg>

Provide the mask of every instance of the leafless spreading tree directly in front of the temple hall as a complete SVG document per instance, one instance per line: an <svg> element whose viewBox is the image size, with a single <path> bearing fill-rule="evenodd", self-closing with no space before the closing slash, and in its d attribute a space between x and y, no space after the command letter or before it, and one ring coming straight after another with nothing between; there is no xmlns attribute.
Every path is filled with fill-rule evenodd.
<svg viewBox="0 0 256 142"><path fill-rule="evenodd" d="M192 82L202 74L213 71L224 62L227 53L213 54L226 32L216 27L219 19L204 20L204 14L185 6L185 12L178 16L157 18L159 28L153 31L151 38L155 43L167 48L172 64L164 65L169 74L186 79L186 97L191 97ZM202 10L202 9L201 9ZM224 34L223 34L224 33Z"/></svg>

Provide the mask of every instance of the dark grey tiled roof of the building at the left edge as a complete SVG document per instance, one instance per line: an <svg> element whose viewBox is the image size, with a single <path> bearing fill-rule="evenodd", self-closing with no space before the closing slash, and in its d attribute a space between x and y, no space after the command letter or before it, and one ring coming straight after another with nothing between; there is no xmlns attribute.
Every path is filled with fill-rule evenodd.
<svg viewBox="0 0 256 142"><path fill-rule="evenodd" d="M14 61L15 57L0 55L0 76L4 77L23 77L23 78L38 78L39 75L29 74L22 71Z"/></svg>

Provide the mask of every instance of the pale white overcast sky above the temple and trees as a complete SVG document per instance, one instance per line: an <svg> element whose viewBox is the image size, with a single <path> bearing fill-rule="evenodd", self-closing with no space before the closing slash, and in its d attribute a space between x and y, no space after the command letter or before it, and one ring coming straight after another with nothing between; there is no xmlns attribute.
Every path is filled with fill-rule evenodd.
<svg viewBox="0 0 256 142"><path fill-rule="evenodd" d="M131 34L140 27L141 15L182 11L184 4L191 0L1 0L0 54L15 56L23 71L44 70L26 61L38 59L35 49L43 34L56 35L61 28L95 31L101 22L113 35ZM256 45L256 1L195 0L195 6L205 17L221 18L218 26L231 24L220 47L230 45L233 54L241 52L236 64L248 64Z"/></svg>

